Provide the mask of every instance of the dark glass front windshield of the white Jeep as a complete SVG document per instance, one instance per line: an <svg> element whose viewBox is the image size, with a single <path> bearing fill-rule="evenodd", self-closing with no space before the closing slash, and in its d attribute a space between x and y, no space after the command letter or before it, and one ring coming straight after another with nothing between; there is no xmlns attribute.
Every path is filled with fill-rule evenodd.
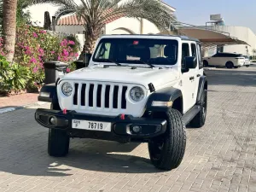
<svg viewBox="0 0 256 192"><path fill-rule="evenodd" d="M102 38L92 61L148 66L175 65L177 40L157 38Z"/></svg>

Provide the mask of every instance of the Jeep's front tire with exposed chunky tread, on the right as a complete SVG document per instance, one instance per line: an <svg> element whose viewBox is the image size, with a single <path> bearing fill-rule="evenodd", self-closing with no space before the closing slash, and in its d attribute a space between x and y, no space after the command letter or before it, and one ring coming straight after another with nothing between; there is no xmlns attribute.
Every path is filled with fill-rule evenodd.
<svg viewBox="0 0 256 192"><path fill-rule="evenodd" d="M149 141L148 152L153 165L161 170L177 168L186 148L186 131L182 114L176 109L166 113L166 133Z"/></svg>

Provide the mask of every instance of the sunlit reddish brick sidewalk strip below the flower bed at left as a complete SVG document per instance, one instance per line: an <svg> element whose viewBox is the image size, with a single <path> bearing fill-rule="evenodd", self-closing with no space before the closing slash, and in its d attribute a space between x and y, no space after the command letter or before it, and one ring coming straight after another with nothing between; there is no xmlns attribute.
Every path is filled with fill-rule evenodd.
<svg viewBox="0 0 256 192"><path fill-rule="evenodd" d="M21 107L33 102L38 102L37 93L26 93L16 96L0 97L0 108Z"/></svg>

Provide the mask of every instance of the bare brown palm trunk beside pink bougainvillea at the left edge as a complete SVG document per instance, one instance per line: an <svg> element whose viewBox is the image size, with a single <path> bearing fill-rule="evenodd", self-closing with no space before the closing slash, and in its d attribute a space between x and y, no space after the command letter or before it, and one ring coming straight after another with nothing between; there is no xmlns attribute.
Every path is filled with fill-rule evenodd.
<svg viewBox="0 0 256 192"><path fill-rule="evenodd" d="M7 61L13 61L15 55L17 0L3 0L3 49L7 52Z"/></svg>

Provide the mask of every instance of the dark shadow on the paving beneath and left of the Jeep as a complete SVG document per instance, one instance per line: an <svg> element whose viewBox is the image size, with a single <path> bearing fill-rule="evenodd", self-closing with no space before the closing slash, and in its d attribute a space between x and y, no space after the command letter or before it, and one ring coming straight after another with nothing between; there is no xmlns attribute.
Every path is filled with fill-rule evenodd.
<svg viewBox="0 0 256 192"><path fill-rule="evenodd" d="M33 119L34 109L0 114L0 172L26 176L70 176L82 172L160 172L151 164L141 143L71 139L66 157L47 154L48 129ZM9 116L16 117L8 120ZM9 118L10 119L10 118ZM3 125L4 122L4 125Z"/></svg>

